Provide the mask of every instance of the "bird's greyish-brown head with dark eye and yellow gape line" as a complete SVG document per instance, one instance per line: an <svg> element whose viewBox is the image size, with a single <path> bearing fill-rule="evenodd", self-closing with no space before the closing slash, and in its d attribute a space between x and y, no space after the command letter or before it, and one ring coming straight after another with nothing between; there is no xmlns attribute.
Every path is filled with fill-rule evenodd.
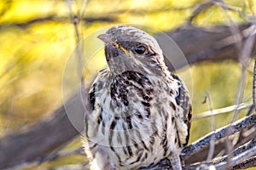
<svg viewBox="0 0 256 170"><path fill-rule="evenodd" d="M113 75L137 71L146 75L163 75L166 71L158 42L131 26L113 26L98 36L105 42L105 55Z"/></svg>

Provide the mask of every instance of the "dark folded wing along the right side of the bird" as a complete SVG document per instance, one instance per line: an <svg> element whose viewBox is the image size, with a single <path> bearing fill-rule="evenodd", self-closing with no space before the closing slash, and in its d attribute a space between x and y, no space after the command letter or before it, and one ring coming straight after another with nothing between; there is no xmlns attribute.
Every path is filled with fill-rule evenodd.
<svg viewBox="0 0 256 170"><path fill-rule="evenodd" d="M192 117L192 107L189 98L189 91L181 78L174 74L172 74L172 77L180 82L178 94L175 99L178 105L177 114L180 114L180 116L177 117L181 117L182 119L177 119L177 133L180 144L187 145L189 142L189 128L191 125Z"/></svg>

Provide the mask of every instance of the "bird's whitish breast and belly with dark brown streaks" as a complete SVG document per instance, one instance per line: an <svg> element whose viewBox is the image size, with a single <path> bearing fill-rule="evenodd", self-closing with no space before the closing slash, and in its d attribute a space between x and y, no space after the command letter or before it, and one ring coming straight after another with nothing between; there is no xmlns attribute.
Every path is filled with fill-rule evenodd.
<svg viewBox="0 0 256 170"><path fill-rule="evenodd" d="M167 131L174 128L170 102L175 98L166 87L127 71L99 89L96 102L101 107L92 113L97 122L96 138L108 146L106 150L120 167L146 167L171 153L169 145L174 145L174 139Z"/></svg>

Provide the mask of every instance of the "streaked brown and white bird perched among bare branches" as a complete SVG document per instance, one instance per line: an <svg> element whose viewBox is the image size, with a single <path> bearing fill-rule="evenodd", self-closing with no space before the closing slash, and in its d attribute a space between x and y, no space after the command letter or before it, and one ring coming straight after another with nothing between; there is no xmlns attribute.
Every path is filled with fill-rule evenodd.
<svg viewBox="0 0 256 170"><path fill-rule="evenodd" d="M108 67L88 93L84 150L90 169L139 169L169 159L182 169L191 101L184 82L168 70L159 43L133 26L113 26L98 36Z"/></svg>

